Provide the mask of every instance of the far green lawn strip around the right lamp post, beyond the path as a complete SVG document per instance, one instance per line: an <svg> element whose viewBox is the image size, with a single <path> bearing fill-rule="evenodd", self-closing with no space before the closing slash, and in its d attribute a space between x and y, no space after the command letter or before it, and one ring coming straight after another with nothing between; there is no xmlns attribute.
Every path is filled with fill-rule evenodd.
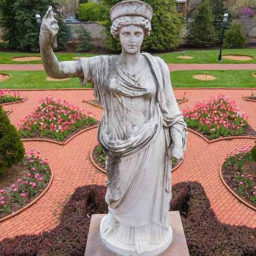
<svg viewBox="0 0 256 256"><path fill-rule="evenodd" d="M234 61L222 58L219 62L219 50L208 50L208 51L189 51L185 52L184 56L191 56L193 59L179 59L178 56L182 56L183 52L171 52L156 54L154 56L159 56L166 63L256 63L256 49L224 49L222 55L224 54L239 54L239 55L249 55L253 56L254 60L251 61Z"/></svg>

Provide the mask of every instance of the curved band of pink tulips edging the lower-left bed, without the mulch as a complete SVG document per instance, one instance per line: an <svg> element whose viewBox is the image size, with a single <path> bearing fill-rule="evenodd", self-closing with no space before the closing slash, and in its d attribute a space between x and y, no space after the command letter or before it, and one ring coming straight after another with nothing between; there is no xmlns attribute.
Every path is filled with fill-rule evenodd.
<svg viewBox="0 0 256 256"><path fill-rule="evenodd" d="M28 152L25 153L24 162L28 167L27 177L19 179L17 184L10 185L9 193L5 190L0 190L2 208L1 211L8 212L10 208L8 207L8 200L10 197L13 197L15 202L19 202L21 205L24 205L24 198L26 195L33 193L34 195L37 194L38 187L40 186L41 189L44 189L45 184L48 183L49 179L49 164L48 158L40 158L40 152L37 151L34 153L34 150L30 150L30 154ZM35 156L36 155L36 156ZM7 200L8 199L8 200Z"/></svg>

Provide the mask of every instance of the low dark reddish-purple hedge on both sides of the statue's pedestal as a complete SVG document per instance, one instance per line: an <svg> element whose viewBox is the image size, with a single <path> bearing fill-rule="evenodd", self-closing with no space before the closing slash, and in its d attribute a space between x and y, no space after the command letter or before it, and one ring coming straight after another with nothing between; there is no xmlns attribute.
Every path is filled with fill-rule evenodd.
<svg viewBox="0 0 256 256"><path fill-rule="evenodd" d="M0 242L1 256L83 256L89 231L91 207L107 213L107 188L86 185L76 189L63 208L60 225L39 235L22 235ZM204 189L197 182L172 187L171 211L180 211L190 255L256 255L256 229L219 222Z"/></svg>

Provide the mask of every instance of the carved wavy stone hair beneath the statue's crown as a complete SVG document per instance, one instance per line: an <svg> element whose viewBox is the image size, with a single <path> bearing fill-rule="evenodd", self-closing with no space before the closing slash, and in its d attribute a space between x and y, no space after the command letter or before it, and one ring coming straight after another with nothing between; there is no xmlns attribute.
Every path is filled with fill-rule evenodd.
<svg viewBox="0 0 256 256"><path fill-rule="evenodd" d="M122 16L113 21L111 26L111 33L113 37L119 40L119 32L122 27L134 25L141 27L144 30L144 39L147 38L150 34L151 24L148 19L141 16Z"/></svg>

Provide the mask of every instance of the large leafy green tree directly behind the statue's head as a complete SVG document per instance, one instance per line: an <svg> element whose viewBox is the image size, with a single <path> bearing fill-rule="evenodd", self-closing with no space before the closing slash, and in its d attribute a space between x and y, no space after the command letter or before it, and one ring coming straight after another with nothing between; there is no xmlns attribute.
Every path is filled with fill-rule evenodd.
<svg viewBox="0 0 256 256"><path fill-rule="evenodd" d="M112 6L119 3L120 0L101 0L101 24L106 29L107 48L113 51L120 51L121 44L114 39L110 33L111 21L109 11ZM142 50L167 51L176 49L181 41L182 27L184 20L175 10L176 0L146 0L153 9L153 18L151 21L152 31L150 36L143 41Z"/></svg>

